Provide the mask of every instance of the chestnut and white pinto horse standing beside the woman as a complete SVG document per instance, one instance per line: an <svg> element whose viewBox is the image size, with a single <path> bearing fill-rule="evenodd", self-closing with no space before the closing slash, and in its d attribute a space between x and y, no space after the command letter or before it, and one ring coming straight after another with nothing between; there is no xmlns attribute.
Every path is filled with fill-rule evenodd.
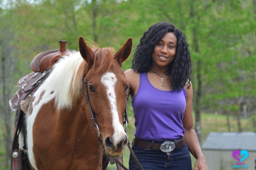
<svg viewBox="0 0 256 170"><path fill-rule="evenodd" d="M119 156L127 146L123 113L129 84L121 67L132 39L115 54L113 48L89 48L82 37L78 44L79 51L61 56L22 108L34 169L102 169L103 152Z"/></svg>

